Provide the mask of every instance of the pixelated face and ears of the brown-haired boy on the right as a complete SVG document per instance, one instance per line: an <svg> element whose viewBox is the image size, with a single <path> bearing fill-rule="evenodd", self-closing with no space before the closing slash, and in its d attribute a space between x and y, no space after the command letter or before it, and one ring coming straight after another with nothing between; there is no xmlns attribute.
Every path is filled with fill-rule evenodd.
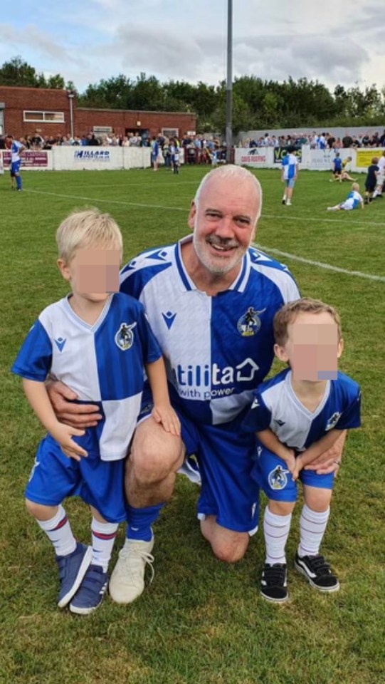
<svg viewBox="0 0 385 684"><path fill-rule="evenodd" d="M294 380L313 382L337 379L337 360L342 349L337 323L327 311L300 312L288 325L286 343L275 345L278 358L290 363Z"/></svg>

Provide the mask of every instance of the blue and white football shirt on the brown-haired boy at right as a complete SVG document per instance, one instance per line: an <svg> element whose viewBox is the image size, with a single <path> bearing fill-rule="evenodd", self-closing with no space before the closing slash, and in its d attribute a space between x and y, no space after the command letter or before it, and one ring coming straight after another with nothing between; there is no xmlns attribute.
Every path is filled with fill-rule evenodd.
<svg viewBox="0 0 385 684"><path fill-rule="evenodd" d="M304 451L332 428L359 427L361 393L352 378L338 372L337 380L327 380L324 398L311 412L292 389L291 375L286 368L258 387L242 423L245 430L261 432L270 427L287 447Z"/></svg>

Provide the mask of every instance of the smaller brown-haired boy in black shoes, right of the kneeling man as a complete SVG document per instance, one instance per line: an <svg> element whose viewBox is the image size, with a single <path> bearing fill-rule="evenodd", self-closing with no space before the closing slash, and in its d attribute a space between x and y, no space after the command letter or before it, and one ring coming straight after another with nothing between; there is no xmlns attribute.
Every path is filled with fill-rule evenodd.
<svg viewBox="0 0 385 684"><path fill-rule="evenodd" d="M260 593L268 601L288 599L285 545L299 478L305 504L295 568L319 591L337 591L320 544L329 518L334 474L306 470L344 430L360 425L360 392L337 371L343 349L341 321L332 306L310 298L285 304L274 318L275 355L289 367L254 392L243 421L259 442L252 477L269 501L265 509L266 559ZM339 465L339 462L338 462Z"/></svg>

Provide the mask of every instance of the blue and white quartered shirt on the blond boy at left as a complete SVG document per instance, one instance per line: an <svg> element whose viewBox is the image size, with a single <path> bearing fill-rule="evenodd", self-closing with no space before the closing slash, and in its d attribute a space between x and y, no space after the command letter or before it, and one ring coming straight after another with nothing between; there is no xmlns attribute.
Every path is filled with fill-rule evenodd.
<svg viewBox="0 0 385 684"><path fill-rule="evenodd" d="M68 297L48 306L23 342L12 371L44 382L48 373L97 404L103 418L74 437L102 460L119 460L137 423L144 364L162 356L142 304L124 294L110 296L93 326L71 308Z"/></svg>

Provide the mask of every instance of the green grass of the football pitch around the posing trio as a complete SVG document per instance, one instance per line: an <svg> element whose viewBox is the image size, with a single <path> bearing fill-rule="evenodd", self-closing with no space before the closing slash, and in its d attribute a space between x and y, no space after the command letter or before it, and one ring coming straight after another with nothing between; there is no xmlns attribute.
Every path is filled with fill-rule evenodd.
<svg viewBox="0 0 385 684"><path fill-rule="evenodd" d="M340 368L362 385L363 425L349 435L323 544L341 590L322 596L292 571L298 511L288 544L290 597L270 606L258 593L261 532L235 566L216 561L195 519L196 487L179 478L155 533L154 583L132 606L106 598L89 617L56 607L48 541L23 504L43 430L9 373L40 311L65 294L54 233L75 207L96 206L122 229L125 261L188 231L191 197L204 174L182 169L25 172L24 191L0 177L2 439L0 475L0 682L4 684L374 684L384 675L384 280L281 260L302 294L342 315ZM326 212L349 184L301 172L292 207L280 204L278 172L258 172L263 214L257 242L307 260L384 278L385 200L364 211ZM361 179L363 185L363 177ZM280 258L279 256L277 257ZM89 539L89 514L66 502L73 529ZM120 529L114 551L124 538Z"/></svg>

